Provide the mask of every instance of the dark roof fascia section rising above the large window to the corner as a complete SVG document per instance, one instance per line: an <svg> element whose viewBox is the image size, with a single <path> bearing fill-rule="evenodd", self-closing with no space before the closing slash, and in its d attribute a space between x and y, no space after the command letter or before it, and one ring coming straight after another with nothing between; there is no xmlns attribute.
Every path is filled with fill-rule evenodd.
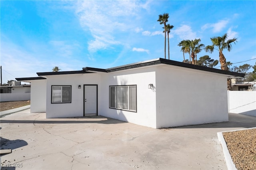
<svg viewBox="0 0 256 170"><path fill-rule="evenodd" d="M146 62L142 61L142 62L137 62L137 63L132 63L132 64L126 64L126 65L106 69L106 71L107 71L107 73L109 73L109 72L121 71L121 70L126 70L126 69L146 67L146 66L156 65L156 64L161 64L160 60L151 60L151 61L146 61Z"/></svg>

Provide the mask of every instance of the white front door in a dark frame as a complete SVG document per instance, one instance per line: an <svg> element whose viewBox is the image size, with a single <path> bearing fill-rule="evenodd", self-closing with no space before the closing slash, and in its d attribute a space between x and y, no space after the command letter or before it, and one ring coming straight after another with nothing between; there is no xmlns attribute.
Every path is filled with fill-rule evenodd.
<svg viewBox="0 0 256 170"><path fill-rule="evenodd" d="M84 115L97 114L97 85L84 85Z"/></svg>

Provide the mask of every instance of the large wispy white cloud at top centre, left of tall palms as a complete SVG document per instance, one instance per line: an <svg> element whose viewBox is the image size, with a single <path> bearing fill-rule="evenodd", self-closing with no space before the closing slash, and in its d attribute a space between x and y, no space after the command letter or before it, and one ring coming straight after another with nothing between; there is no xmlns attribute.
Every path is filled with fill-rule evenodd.
<svg viewBox="0 0 256 170"><path fill-rule="evenodd" d="M148 8L148 3L138 1L78 1L76 14L80 25L92 34L94 40L88 42L89 52L120 44L116 34L134 29L132 20L140 10ZM135 32L141 32L136 28Z"/></svg>

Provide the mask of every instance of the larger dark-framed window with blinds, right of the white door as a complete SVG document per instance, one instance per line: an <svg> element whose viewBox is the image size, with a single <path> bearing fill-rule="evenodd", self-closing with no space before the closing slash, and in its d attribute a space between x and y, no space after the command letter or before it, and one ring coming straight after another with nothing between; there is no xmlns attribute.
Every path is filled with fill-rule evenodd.
<svg viewBox="0 0 256 170"><path fill-rule="evenodd" d="M110 86L109 107L128 111L137 111L137 86Z"/></svg>

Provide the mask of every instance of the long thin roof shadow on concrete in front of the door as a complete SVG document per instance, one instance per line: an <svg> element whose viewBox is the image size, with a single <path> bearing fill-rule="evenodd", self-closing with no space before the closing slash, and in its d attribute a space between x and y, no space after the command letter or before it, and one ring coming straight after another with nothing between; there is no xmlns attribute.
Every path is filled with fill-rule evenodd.
<svg viewBox="0 0 256 170"><path fill-rule="evenodd" d="M65 120L62 120L65 119ZM67 120L68 119L68 120ZM72 120L76 119L76 120ZM86 119L86 120L82 120ZM90 120L88 120L90 119ZM97 120L104 119L104 120ZM102 123L102 124L119 124L126 123L116 119L106 118L102 116L92 116L92 117L75 117L75 118L59 118L59 119L46 119L47 121L34 121L34 120L1 120L1 123L34 123L34 124L58 124L58 123Z"/></svg>

